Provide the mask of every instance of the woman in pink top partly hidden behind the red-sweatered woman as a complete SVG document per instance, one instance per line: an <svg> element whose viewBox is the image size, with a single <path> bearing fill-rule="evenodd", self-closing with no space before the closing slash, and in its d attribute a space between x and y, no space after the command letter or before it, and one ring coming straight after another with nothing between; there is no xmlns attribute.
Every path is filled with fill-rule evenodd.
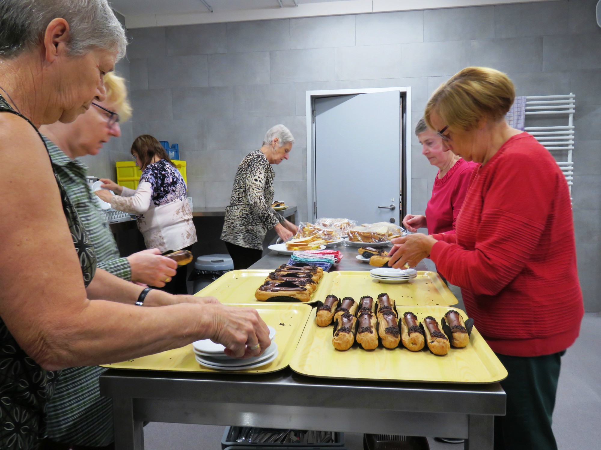
<svg viewBox="0 0 601 450"><path fill-rule="evenodd" d="M426 215L407 214L403 225L416 232L418 228L428 229L429 235L454 234L457 215L463 205L472 172L478 164L463 160L447 152L436 131L427 127L423 118L415 127L415 136L422 145L422 154L432 166L438 167L438 175L432 188L432 198L426 207Z"/></svg>

